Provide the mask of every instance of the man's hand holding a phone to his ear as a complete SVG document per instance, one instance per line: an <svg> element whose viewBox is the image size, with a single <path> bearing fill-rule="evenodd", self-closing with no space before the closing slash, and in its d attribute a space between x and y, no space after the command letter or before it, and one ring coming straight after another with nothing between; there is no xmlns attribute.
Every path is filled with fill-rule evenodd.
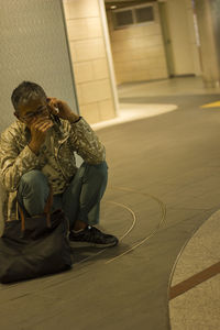
<svg viewBox="0 0 220 330"><path fill-rule="evenodd" d="M78 114L72 111L67 102L58 100L56 98L47 98L46 101L52 114L55 114L70 122L79 119Z"/></svg>

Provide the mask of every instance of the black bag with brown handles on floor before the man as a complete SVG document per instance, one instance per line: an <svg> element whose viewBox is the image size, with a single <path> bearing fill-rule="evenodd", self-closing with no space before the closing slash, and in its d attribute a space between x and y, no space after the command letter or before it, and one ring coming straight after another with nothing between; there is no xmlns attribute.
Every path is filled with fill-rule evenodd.
<svg viewBox="0 0 220 330"><path fill-rule="evenodd" d="M52 193L44 213L7 221L0 239L0 282L11 283L54 274L72 266L68 220L62 210L51 215Z"/></svg>

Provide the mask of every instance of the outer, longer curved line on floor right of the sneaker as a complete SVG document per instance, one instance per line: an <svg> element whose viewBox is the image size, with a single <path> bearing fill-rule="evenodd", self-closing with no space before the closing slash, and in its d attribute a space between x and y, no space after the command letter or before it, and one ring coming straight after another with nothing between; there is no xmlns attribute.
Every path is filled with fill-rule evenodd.
<svg viewBox="0 0 220 330"><path fill-rule="evenodd" d="M123 191L130 191L130 193L139 193L143 196L148 196L151 198L153 198L154 200L156 200L158 202L158 205L161 206L161 209L162 209L162 218L161 218L161 221L160 223L157 224L156 229L146 238L144 238L141 242L139 242L138 244L133 245L131 249L127 250L125 252L108 260L105 264L109 264L111 263L112 261L116 261L118 260L119 257L128 254L129 252L135 250L136 248L141 246L143 243L145 243L147 240L150 240L153 235L156 234L156 232L158 231L158 229L161 228L161 226L165 222L165 218L166 218L166 206L163 204L163 201L161 199L158 199L157 197L155 197L154 195L151 195L151 194L146 194L146 193L140 193L140 191L136 191L134 189L130 189L130 188L125 188L125 187L114 187L114 189L118 189L118 190L123 190Z"/></svg>

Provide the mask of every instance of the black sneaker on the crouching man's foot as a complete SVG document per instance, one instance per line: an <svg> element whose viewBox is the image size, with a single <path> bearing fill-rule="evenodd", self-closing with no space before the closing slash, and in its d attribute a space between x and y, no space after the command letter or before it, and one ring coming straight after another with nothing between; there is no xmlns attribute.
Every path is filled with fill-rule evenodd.
<svg viewBox="0 0 220 330"><path fill-rule="evenodd" d="M110 234L101 232L96 227L88 226L85 230L75 233L70 231L69 243L75 248L82 246L96 246L96 248L109 248L117 245L119 240Z"/></svg>

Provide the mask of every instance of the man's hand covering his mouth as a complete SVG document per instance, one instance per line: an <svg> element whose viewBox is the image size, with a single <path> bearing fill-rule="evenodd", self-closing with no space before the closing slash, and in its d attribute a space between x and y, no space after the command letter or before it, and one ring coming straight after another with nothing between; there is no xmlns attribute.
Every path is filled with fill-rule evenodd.
<svg viewBox="0 0 220 330"><path fill-rule="evenodd" d="M46 132L53 127L53 122L48 117L40 117L33 119L29 128L31 131L31 142L29 147L37 154L41 145L44 143Z"/></svg>

